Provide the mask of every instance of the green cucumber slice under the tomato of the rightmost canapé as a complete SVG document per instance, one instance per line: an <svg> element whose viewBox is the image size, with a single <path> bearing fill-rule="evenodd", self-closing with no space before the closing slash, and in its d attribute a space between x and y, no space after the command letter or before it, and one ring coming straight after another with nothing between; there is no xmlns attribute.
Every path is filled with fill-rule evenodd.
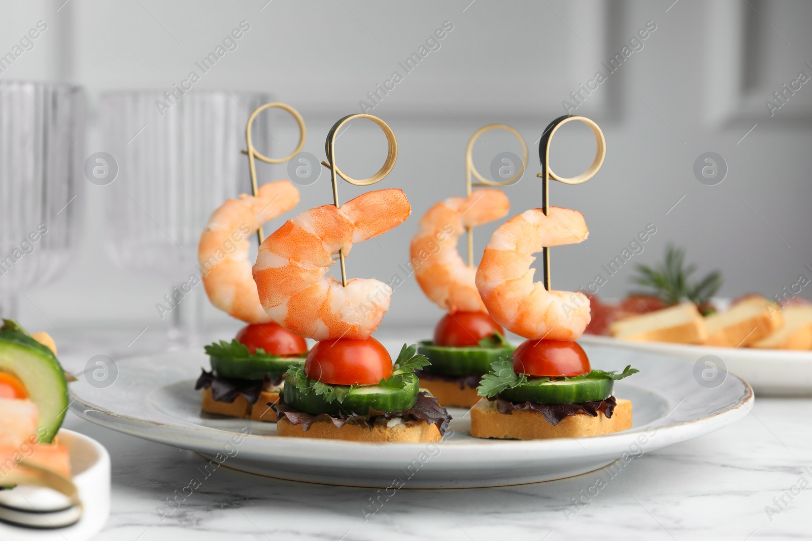
<svg viewBox="0 0 812 541"><path fill-rule="evenodd" d="M609 378L584 378L582 380L528 380L526 384L505 389L499 397L516 404L566 404L589 402L611 397L615 381Z"/></svg>

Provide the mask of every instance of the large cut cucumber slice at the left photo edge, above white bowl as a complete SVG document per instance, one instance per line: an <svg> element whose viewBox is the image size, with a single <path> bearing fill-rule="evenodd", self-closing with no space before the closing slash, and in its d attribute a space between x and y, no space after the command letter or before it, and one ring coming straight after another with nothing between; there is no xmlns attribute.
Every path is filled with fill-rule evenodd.
<svg viewBox="0 0 812 541"><path fill-rule="evenodd" d="M67 412L67 381L54 353L24 333L0 330L0 371L16 376L40 410L37 436L50 443Z"/></svg>

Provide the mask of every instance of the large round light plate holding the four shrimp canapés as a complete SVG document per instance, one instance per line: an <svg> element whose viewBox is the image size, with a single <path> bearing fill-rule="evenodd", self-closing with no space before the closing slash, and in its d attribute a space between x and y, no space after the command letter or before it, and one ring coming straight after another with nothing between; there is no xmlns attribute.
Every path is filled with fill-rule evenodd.
<svg viewBox="0 0 812 541"><path fill-rule="evenodd" d="M401 343L383 341L390 351ZM441 444L370 444L275 436L273 423L201 414L193 389L202 353L157 354L118 362L118 380L97 389L71 384L72 409L84 419L145 440L191 449L225 466L282 479L365 487L493 487L582 474L619 458L713 432L749 412L753 391L728 376L706 389L693 363L639 351L587 346L593 367L640 373L618 382L615 396L633 401L631 430L559 440L480 440L469 436L466 410L451 409ZM241 436L240 432L248 434ZM214 467L214 466L212 466Z"/></svg>

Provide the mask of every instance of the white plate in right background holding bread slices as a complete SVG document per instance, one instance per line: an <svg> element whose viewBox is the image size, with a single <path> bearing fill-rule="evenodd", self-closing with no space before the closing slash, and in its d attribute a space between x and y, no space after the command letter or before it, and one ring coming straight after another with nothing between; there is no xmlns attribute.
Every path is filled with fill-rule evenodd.
<svg viewBox="0 0 812 541"><path fill-rule="evenodd" d="M613 346L671 355L698 363L702 371L719 365L753 386L759 396L812 396L812 351L758 350L755 348L686 346L665 342L637 342L585 334L581 344ZM706 357L710 356L710 357ZM703 359L704 358L704 359ZM715 359L714 359L715 358ZM719 363L721 361L721 363ZM706 371L710 377L711 371Z"/></svg>

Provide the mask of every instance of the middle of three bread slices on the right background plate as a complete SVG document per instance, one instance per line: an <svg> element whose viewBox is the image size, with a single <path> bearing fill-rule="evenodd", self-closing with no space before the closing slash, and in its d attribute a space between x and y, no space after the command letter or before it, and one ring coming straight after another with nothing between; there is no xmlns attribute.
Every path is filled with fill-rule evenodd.
<svg viewBox="0 0 812 541"><path fill-rule="evenodd" d="M748 297L730 310L705 318L708 346L743 347L775 333L784 324L780 307L763 297Z"/></svg>

